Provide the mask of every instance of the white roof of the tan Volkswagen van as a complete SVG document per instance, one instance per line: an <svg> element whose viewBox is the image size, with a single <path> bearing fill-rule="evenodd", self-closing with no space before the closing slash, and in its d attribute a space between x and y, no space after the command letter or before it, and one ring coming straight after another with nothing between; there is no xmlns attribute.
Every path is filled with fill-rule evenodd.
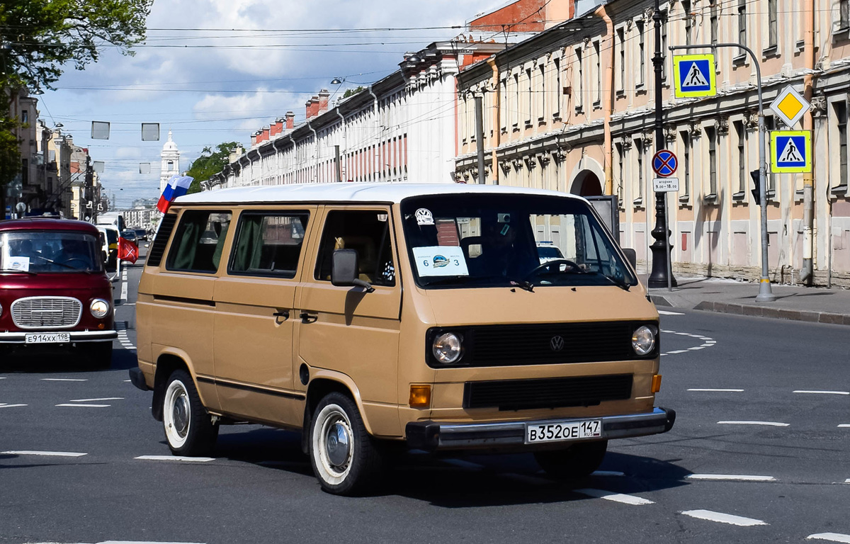
<svg viewBox="0 0 850 544"><path fill-rule="evenodd" d="M400 202L422 195L546 195L581 199L554 190L525 189L507 185L329 183L233 187L178 197L175 204L243 204L252 202ZM583 200L583 199L581 199Z"/></svg>

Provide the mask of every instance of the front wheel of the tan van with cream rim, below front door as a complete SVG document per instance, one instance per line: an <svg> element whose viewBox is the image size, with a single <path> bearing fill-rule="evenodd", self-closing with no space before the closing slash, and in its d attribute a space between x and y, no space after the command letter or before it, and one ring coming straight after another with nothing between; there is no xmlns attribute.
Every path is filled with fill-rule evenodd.
<svg viewBox="0 0 850 544"><path fill-rule="evenodd" d="M380 450L366 432L354 400L327 394L316 406L309 433L310 462L323 490L351 496L375 484Z"/></svg>

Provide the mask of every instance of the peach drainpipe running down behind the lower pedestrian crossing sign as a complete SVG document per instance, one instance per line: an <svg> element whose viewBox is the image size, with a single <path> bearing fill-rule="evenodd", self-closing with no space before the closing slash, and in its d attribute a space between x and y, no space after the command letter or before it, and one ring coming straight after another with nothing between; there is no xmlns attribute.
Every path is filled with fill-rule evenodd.
<svg viewBox="0 0 850 544"><path fill-rule="evenodd" d="M814 94L813 71L814 71L814 7L813 0L805 0L803 9L803 62L806 75L802 80L803 98L812 102ZM809 110L802 118L803 130L812 130L814 127L812 111ZM813 134L814 137L814 134ZM812 285L814 280L814 162L812 155L812 172L802 174L802 269L800 270L800 281L806 285ZM829 241L830 235L827 235ZM830 241L831 242L831 241Z"/></svg>

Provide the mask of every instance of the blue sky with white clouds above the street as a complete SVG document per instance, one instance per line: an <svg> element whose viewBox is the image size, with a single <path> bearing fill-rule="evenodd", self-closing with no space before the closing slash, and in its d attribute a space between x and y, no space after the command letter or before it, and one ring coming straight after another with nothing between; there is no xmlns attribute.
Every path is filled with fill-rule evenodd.
<svg viewBox="0 0 850 544"><path fill-rule="evenodd" d="M105 48L85 71L67 66L57 90L39 97L39 111L105 162L104 187L127 207L158 196L169 129L186 169L205 146L250 144L254 130L288 110L302 122L304 101L320 88L341 95L374 82L396 70L405 51L455 37L461 30L450 26L500 4L155 0L147 42L135 56ZM346 81L331 85L334 77ZM109 140L90 138L92 121L111 123ZM141 140L142 122L160 123L160 141ZM150 162L150 173L139 173L140 162Z"/></svg>

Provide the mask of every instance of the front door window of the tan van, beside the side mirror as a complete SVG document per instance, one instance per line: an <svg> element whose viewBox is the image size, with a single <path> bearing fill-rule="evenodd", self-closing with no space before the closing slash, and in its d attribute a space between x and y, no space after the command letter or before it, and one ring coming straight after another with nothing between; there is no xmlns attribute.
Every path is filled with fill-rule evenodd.
<svg viewBox="0 0 850 544"><path fill-rule="evenodd" d="M337 249L357 250L360 280L368 281L373 286L395 285L395 263L386 213L348 210L328 212L319 246L316 280L331 280L331 258Z"/></svg>

